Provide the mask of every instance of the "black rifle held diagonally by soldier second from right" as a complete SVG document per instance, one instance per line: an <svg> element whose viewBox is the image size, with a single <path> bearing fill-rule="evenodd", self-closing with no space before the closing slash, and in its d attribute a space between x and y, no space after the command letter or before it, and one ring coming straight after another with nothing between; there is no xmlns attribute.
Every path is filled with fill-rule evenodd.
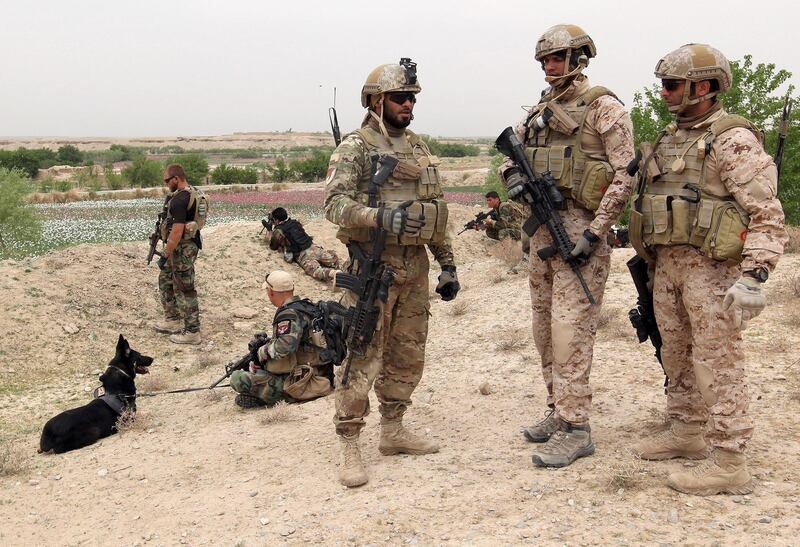
<svg viewBox="0 0 800 547"><path fill-rule="evenodd" d="M531 208L531 216L522 225L522 229L529 236L533 236L539 226L544 224L547 226L547 231L550 232L553 243L549 247L539 249L536 254L542 260L547 260L558 254L561 260L569 264L577 276L581 287L583 287L583 292L586 293L586 297L589 299L589 303L595 304L595 299L589 291L580 269L586 263L587 257L572 256L570 254L575 244L570 241L567 230L564 228L564 222L558 214L558 209L564 202L564 196L559 192L555 179L549 171L542 173L541 177L536 177L533 174L531 165L525 157L522 144L510 127L500 133L494 145L500 152L511 158L517 166L522 168L524 182L520 197Z"/></svg>

